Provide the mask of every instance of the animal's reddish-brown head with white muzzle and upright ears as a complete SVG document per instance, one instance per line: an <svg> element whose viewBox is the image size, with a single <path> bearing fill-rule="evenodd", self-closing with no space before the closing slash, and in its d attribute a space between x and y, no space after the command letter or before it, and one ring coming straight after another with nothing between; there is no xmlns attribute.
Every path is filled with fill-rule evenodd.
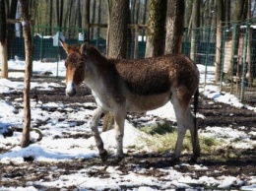
<svg viewBox="0 0 256 191"><path fill-rule="evenodd" d="M66 95L75 96L78 87L85 79L86 59L85 54L87 43L82 45L69 45L60 39L62 47L67 53L66 66Z"/></svg>

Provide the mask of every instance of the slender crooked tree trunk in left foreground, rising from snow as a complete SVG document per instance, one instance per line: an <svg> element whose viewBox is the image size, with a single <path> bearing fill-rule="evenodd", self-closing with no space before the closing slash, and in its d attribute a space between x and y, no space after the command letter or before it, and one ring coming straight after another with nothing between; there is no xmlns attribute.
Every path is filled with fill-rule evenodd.
<svg viewBox="0 0 256 191"><path fill-rule="evenodd" d="M21 3L21 18L23 25L23 34L25 40L25 78L24 78L24 126L22 148L30 145L30 129L31 129L31 104L30 104L30 89L32 76L32 33L31 22L29 16L29 4L27 0L20 0Z"/></svg>

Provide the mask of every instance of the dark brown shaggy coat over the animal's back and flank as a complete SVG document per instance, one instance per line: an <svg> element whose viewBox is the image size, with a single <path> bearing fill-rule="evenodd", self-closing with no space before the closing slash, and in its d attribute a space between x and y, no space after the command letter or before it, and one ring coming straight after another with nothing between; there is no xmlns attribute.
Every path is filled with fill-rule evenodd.
<svg viewBox="0 0 256 191"><path fill-rule="evenodd" d="M142 96L167 93L173 83L192 89L193 83L199 81L196 65L181 54L120 60L115 69L127 88Z"/></svg>

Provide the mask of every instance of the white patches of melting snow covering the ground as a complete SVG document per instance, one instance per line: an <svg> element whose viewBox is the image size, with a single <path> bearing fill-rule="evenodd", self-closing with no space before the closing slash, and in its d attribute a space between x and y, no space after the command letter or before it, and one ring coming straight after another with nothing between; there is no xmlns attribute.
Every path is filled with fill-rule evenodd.
<svg viewBox="0 0 256 191"><path fill-rule="evenodd" d="M65 67L64 61L58 63L59 76L65 76ZM24 62L19 60L10 60L9 68L11 69L24 69ZM201 83L204 83L205 78L205 67L198 65L200 70ZM45 74L45 72L52 73L52 76L57 74L57 63L41 63L34 61L33 62L33 72L35 74ZM214 77L214 68L209 67L208 71L210 74L207 76L208 82L213 81ZM24 76L24 73L10 73L9 75L12 78L20 78ZM51 90L52 87L63 86L58 83L32 83L32 89L37 88L41 90ZM7 79L0 80L0 94L12 94L16 92L22 92L24 84L22 82L16 82L15 80L10 81ZM229 94L220 94L217 87L215 86L206 86L200 89L201 94L213 98L217 101L222 101L227 104L231 104L237 107L245 107L251 110L256 111L255 107L250 105L244 105L239 100ZM46 121L46 123L40 126L40 131L43 134L41 141L32 144L28 148L21 148L21 132L14 132L12 137L4 138L2 133L5 132L9 127L18 127L22 128L23 126L23 117L24 112L22 109L17 109L17 105L23 104L23 97L17 98L15 101L9 101L8 96L5 99L0 99L0 149L8 151L6 153L0 154L0 165L9 165L10 162L14 164L23 164L26 163L24 158L32 157L33 161L42 161L42 162L59 162L59 161L71 161L72 159L92 159L98 157L95 140L93 138L76 138L76 139L67 139L64 138L63 132L68 132L70 134L77 133L90 133L89 123L84 125L77 125L72 121L67 120L58 120L59 118L69 118L69 119L85 119L89 120L92 116L92 110L89 109L80 109L74 110L71 104L65 105L62 102L48 102L42 103L40 101L36 102L32 100L32 126L38 121ZM90 105L95 106L95 103L76 103L81 105ZM58 112L58 109L54 112L47 112L45 108L61 108L69 110L68 114L63 116L63 113ZM175 120L173 109L170 112L171 104L167 103L159 109L149 111L147 115L156 115L160 117L168 117L171 120ZM146 116L147 117L147 116ZM204 116L201 116L204 117ZM125 133L124 133L124 152L129 148L137 148L140 151L149 151L147 144L143 142L142 137L148 136L143 132L136 129L128 121L125 122ZM252 132L253 133L253 132ZM254 132L255 133L255 132ZM206 129L205 136L213 137L227 137L226 140L237 139L237 137L243 137L246 140L246 135L238 132L230 127L222 128L215 127ZM61 139L55 139L56 136ZM108 151L114 152L115 142L113 130L101 133L103 142ZM38 134L32 131L32 140L36 140ZM246 140L245 144L240 147L252 147L255 148L256 142L253 140ZM236 145L239 147L239 145ZM190 165L188 163L181 163L179 165ZM57 188L62 188L62 186L76 186L78 190L104 190L104 189L120 189L122 185L127 185L129 187L136 187L138 190L154 190L154 187L158 187L162 190L170 189L171 187L175 188L187 188L190 189L189 184L206 184L218 187L220 189L228 189L231 184L241 184L240 189L243 190L256 190L256 177L250 177L250 181L247 182L247 185L244 185L242 180L238 177L233 176L222 176L220 178L202 176L199 179L194 179L191 173L181 173L177 168L169 167L160 169L161 173L165 175L164 179L159 179L154 176L144 176L141 175L142 171L147 169L138 168L136 172L131 172L129 174L122 174L118 170L118 167L108 166L106 170L110 174L109 178L100 178L96 176L90 176L89 171L98 170L98 168L103 168L104 166L92 166L89 168L83 168L79 171L76 171L71 174L61 175L58 179L50 177L49 180L39 180L39 181L30 181L27 182L26 187L3 187L0 185L0 190L37 190L38 186L51 187L55 186ZM204 169L207 166L200 164L191 165L192 169ZM53 169L54 170L54 169ZM254 169L255 170L255 169ZM1 172L0 172L1 173ZM168 180L168 181L167 181ZM244 186L242 186L244 185ZM191 189L192 190L192 189Z"/></svg>

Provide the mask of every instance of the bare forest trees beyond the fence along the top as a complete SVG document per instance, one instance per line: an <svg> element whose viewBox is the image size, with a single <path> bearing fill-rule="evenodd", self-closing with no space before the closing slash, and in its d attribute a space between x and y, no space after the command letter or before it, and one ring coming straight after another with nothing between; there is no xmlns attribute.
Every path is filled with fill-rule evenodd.
<svg viewBox="0 0 256 191"><path fill-rule="evenodd" d="M6 3L6 18L19 18L19 1L4 1ZM147 25L151 9L150 4L154 1L156 0L129 0L130 17L128 23ZM199 18L200 21L197 27L217 25L219 0L184 0L184 2L184 28L192 28L195 17ZM236 21L235 12L238 6L241 10L241 20L247 19L248 6L251 7L251 17L253 18L256 14L255 0L221 0L221 2L225 25ZM192 14L193 4L195 3L197 3L196 10ZM107 24L109 9L111 9L109 5L111 5L111 0L30 0L29 13L33 24L36 26L84 28L87 25L86 19L88 16L90 17L90 24ZM160 14L164 15L165 11L162 10ZM94 38L95 35L96 30L92 28L91 38ZM104 36L105 32L101 32L100 35Z"/></svg>

